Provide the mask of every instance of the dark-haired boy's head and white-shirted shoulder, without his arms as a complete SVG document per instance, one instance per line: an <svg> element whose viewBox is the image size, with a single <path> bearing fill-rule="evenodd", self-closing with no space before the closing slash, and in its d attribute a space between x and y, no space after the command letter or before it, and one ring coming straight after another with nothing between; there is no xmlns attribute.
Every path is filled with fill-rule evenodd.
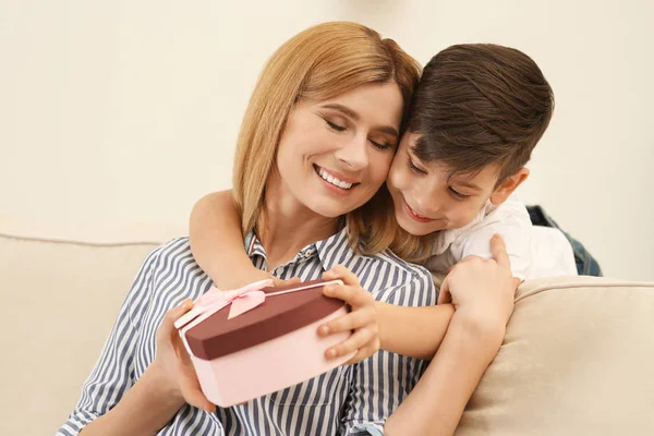
<svg viewBox="0 0 654 436"><path fill-rule="evenodd" d="M549 84L518 50L453 46L425 66L387 186L402 229L431 242L428 269L488 258L500 233L514 277L577 274L562 234L532 228L511 195L553 110Z"/></svg>

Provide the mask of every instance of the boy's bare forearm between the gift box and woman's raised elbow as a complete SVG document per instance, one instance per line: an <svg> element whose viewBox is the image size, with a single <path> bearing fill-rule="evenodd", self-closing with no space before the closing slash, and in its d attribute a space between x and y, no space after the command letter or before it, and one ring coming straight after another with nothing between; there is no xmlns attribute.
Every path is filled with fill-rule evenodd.
<svg viewBox="0 0 654 436"><path fill-rule="evenodd" d="M379 342L383 350L414 359L431 360L445 338L455 314L451 304L405 307L376 302Z"/></svg>

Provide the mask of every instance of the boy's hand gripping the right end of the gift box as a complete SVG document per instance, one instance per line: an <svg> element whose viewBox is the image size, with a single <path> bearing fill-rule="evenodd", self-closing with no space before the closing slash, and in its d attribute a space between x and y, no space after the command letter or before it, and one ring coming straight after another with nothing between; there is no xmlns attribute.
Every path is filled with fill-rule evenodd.
<svg viewBox="0 0 654 436"><path fill-rule="evenodd" d="M379 327L377 325L377 308L373 294L359 284L356 276L342 265L338 265L323 274L325 280L341 279L343 286L330 284L323 290L330 298L343 300L352 307L352 312L332 319L318 328L318 335L328 336L342 331L354 330L354 334L338 346L325 352L327 359L336 359L356 351L356 354L346 365L361 362L379 350Z"/></svg>

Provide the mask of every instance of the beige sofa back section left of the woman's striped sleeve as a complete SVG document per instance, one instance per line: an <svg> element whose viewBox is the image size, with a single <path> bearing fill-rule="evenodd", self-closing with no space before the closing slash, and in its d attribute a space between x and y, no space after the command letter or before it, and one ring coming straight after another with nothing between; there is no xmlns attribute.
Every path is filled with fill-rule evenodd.
<svg viewBox="0 0 654 436"><path fill-rule="evenodd" d="M56 433L154 247L0 234L0 434Z"/></svg>

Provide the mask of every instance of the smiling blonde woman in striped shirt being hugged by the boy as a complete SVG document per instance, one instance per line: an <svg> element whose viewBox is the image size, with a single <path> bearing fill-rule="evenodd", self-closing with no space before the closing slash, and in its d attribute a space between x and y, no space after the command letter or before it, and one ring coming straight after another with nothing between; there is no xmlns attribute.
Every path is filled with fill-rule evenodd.
<svg viewBox="0 0 654 436"><path fill-rule="evenodd" d="M387 199L379 187L417 78L415 61L393 41L352 23L312 27L272 56L245 113L234 166L242 220L253 229L245 250L258 268L275 266L277 277L311 280L340 264L361 278L361 286L374 289L377 300L436 303L431 276L385 251L395 228L391 216L376 208ZM329 122L343 111L356 119L352 126L356 134L348 140L337 135ZM316 174L323 170L352 183L348 194L337 194L322 183ZM341 216L347 216L347 225ZM358 246L370 249L374 243L378 254L358 253ZM480 282L485 290L506 290L505 262L471 262L469 270L460 268L461 280L477 281L450 280L455 302L468 306L467 292L476 292ZM416 388L408 407L392 416L417 382L423 363L386 352L213 413L172 328L190 310L186 300L198 298L209 286L187 239L155 250L59 434L408 434L420 428L416 420L417 425L432 425L434 414L449 411L450 398L441 402L438 413L431 410L439 404L421 401L444 391L431 385L443 383L449 389L448 379L453 379L460 389L450 395L455 404L460 405L459 397L468 398L468 390L474 388L467 388L468 379L481 376L475 373L479 368L465 366L468 347L476 353L491 349L479 324L455 316L444 351L435 358L444 361L443 370L429 368L421 382L429 397ZM451 308L443 307L449 320ZM471 335L474 340L469 340Z"/></svg>

